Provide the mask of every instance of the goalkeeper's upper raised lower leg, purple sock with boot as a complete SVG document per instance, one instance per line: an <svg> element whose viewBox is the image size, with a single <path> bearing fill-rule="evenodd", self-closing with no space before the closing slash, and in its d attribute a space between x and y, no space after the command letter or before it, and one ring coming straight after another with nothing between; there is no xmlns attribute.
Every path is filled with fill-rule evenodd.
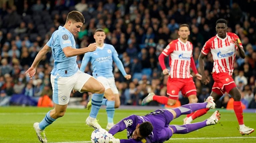
<svg viewBox="0 0 256 143"><path fill-rule="evenodd" d="M182 105L180 107L174 108L173 110L176 112L176 118L180 115L190 114L196 110L210 108L215 109L215 103L213 102L213 98L209 96L204 103L191 103Z"/></svg>

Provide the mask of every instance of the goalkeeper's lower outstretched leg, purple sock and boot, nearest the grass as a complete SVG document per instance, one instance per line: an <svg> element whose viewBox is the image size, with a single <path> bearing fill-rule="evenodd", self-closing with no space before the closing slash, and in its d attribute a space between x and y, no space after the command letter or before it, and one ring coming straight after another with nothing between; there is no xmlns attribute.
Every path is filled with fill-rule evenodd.
<svg viewBox="0 0 256 143"><path fill-rule="evenodd" d="M217 124L219 119L220 119L220 113L219 111L215 111L210 118L202 122L185 124L185 125L169 125L169 127L173 129L173 134L186 134L208 125L215 125Z"/></svg>

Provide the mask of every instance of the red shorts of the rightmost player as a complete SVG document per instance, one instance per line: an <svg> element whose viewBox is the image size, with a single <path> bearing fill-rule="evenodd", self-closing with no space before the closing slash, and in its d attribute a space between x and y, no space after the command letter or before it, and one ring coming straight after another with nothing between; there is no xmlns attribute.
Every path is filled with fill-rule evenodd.
<svg viewBox="0 0 256 143"><path fill-rule="evenodd" d="M212 78L214 80L212 91L218 95L229 93L232 88L236 87L233 78L228 73L213 73Z"/></svg>

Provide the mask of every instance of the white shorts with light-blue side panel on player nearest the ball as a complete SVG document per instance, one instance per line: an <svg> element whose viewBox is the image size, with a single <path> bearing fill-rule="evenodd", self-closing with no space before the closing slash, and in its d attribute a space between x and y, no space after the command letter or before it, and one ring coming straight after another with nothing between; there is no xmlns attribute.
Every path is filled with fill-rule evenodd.
<svg viewBox="0 0 256 143"><path fill-rule="evenodd" d="M51 75L53 102L58 105L68 104L72 89L81 92L90 77L92 76L81 71L70 77L61 77L58 74L56 76Z"/></svg>

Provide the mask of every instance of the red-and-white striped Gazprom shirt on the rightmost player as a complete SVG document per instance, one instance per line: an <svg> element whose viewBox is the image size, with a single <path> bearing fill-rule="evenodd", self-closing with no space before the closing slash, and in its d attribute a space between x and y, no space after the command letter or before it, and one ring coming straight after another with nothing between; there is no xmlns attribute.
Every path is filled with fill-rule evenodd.
<svg viewBox="0 0 256 143"><path fill-rule="evenodd" d="M242 43L239 37L234 33L227 33L227 36L222 39L218 35L210 38L203 46L202 53L207 55L210 51L214 60L212 72L233 74L234 61L236 56L237 46L233 40L238 39L241 47Z"/></svg>

